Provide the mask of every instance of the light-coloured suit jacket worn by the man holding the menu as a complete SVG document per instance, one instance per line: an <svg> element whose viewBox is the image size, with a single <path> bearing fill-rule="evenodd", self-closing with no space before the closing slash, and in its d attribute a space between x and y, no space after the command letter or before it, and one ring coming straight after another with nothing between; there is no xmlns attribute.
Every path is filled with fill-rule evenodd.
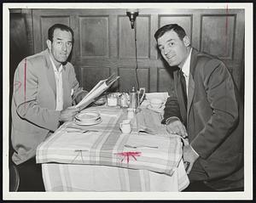
<svg viewBox="0 0 256 203"><path fill-rule="evenodd" d="M63 109L66 109L72 105L72 92L76 93L79 88L69 62L63 65L62 82ZM59 127L61 111L55 110L55 93L55 74L47 49L20 62L15 70L12 99L11 139L15 164L35 156L38 144Z"/></svg>

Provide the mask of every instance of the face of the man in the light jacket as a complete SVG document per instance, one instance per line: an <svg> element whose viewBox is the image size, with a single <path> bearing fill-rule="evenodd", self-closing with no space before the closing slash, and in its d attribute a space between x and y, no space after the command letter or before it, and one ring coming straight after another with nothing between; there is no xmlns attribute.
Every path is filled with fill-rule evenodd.
<svg viewBox="0 0 256 203"><path fill-rule="evenodd" d="M69 31L61 31L61 29L55 29L53 42L48 40L49 52L57 65L67 61L73 47L72 41L72 34Z"/></svg>

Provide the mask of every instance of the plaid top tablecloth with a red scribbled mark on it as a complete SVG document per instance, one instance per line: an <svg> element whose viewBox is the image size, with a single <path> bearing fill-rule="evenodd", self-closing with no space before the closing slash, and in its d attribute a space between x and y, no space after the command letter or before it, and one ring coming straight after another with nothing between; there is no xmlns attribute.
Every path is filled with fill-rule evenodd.
<svg viewBox="0 0 256 203"><path fill-rule="evenodd" d="M126 119L125 110L119 108L90 108L86 111L98 111L102 122L95 126L78 126L74 121L62 125L52 136L40 144L37 149L37 162L57 162L73 166L103 166L137 171L153 172L166 177L172 177L179 167L183 171L183 189L189 180L181 168L182 142L177 136L165 133L166 127L160 124L160 116L148 110L142 110L137 114L137 119L132 121L131 134L122 134L119 123ZM143 118L143 120L142 120ZM152 125L147 127L148 121ZM146 125L145 125L146 124ZM143 128L150 128L151 132L159 134L139 132ZM93 129L97 132L67 133L67 127L79 127ZM183 164L182 164L183 165ZM45 165L43 165L46 168ZM109 167L111 166L111 167ZM131 173L131 172L130 172ZM176 175L177 176L177 175ZM44 176L46 177L46 176Z"/></svg>

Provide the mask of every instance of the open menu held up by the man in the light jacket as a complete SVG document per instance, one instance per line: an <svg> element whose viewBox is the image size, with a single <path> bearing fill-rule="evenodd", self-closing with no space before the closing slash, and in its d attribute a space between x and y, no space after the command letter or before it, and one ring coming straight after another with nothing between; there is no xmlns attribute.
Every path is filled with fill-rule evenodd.
<svg viewBox="0 0 256 203"><path fill-rule="evenodd" d="M77 104L75 107L80 108L81 110L87 107L90 103L95 101L97 97L99 97L102 93L104 93L108 87L110 87L113 82L116 82L119 79L119 76L115 76L115 74L109 76L107 79L102 80L96 84L95 87L93 87L89 93L87 93L84 96L84 99L82 99L79 104Z"/></svg>

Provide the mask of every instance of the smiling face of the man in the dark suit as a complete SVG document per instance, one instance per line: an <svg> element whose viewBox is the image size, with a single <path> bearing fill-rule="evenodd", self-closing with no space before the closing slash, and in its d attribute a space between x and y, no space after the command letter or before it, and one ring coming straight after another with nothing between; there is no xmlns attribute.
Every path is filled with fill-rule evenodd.
<svg viewBox="0 0 256 203"><path fill-rule="evenodd" d="M171 66L183 66L189 55L189 38L181 40L175 31L167 31L157 40L158 48L166 62Z"/></svg>

